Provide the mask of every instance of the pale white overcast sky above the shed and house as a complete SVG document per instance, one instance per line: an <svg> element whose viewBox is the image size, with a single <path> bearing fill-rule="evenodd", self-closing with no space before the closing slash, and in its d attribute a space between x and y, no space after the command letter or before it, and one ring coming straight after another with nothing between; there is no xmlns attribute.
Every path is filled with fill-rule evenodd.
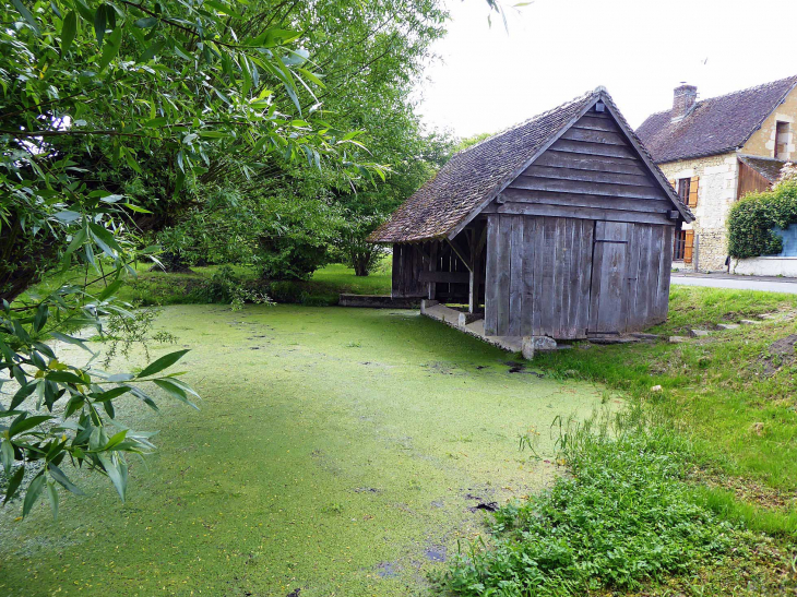
<svg viewBox="0 0 797 597"><path fill-rule="evenodd" d="M504 7L514 1L504 0ZM699 99L797 74L795 0L447 0L448 35L416 89L418 112L457 136L498 132L598 85L634 128L681 82Z"/></svg>

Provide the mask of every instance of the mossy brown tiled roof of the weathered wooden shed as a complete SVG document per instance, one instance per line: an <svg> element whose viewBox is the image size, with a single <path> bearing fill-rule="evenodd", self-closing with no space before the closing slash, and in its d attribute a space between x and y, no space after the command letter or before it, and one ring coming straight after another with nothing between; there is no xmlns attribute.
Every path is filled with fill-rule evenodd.
<svg viewBox="0 0 797 597"><path fill-rule="evenodd" d="M668 190L687 222L692 216L640 144L604 87L587 92L456 153L438 175L407 199L368 237L371 242L415 242L443 238L464 225L531 165L597 100L603 100L639 145L643 158Z"/></svg>

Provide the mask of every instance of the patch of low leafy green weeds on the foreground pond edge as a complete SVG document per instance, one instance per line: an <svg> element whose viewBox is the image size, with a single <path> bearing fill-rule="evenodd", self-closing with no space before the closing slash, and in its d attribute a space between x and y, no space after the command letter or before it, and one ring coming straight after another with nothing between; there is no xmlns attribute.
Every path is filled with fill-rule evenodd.
<svg viewBox="0 0 797 597"><path fill-rule="evenodd" d="M571 595L683 574L730 546L731 527L682 481L686 444L637 428L566 435L571 476L495 516L496 545L473 547L438 585L456 595Z"/></svg>

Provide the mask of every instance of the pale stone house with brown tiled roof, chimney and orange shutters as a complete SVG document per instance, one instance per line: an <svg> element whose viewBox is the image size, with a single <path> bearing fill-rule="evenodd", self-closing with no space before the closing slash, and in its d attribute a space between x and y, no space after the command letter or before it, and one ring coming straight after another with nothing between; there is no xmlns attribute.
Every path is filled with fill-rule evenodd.
<svg viewBox="0 0 797 597"><path fill-rule="evenodd" d="M730 206L769 189L797 159L797 76L698 100L693 85L676 87L673 107L651 115L637 134L692 210L676 230L674 266L701 272L727 264Z"/></svg>

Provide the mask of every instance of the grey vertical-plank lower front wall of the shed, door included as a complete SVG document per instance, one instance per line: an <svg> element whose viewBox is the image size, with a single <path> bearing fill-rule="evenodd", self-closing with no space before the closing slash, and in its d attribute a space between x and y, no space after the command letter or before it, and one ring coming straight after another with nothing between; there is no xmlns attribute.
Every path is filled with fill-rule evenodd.
<svg viewBox="0 0 797 597"><path fill-rule="evenodd" d="M485 333L585 338L667 317L673 227L493 215Z"/></svg>

